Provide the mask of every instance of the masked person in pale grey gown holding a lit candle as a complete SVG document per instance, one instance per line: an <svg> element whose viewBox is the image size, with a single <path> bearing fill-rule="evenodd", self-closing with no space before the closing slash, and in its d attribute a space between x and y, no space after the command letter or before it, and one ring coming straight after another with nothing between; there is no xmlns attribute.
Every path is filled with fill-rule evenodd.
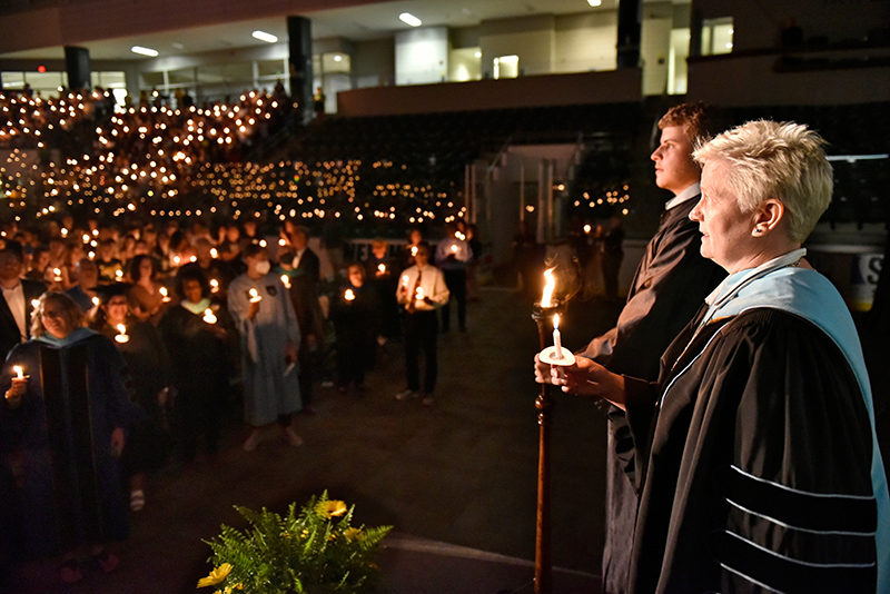
<svg viewBox="0 0 890 594"><path fill-rule="evenodd" d="M297 316L281 279L270 271L266 248L250 244L243 255L247 273L229 285L228 308L241 337L245 420L250 426L244 448L255 449L260 428L275 422L285 439L299 446L303 439L293 426L303 407Z"/></svg>

